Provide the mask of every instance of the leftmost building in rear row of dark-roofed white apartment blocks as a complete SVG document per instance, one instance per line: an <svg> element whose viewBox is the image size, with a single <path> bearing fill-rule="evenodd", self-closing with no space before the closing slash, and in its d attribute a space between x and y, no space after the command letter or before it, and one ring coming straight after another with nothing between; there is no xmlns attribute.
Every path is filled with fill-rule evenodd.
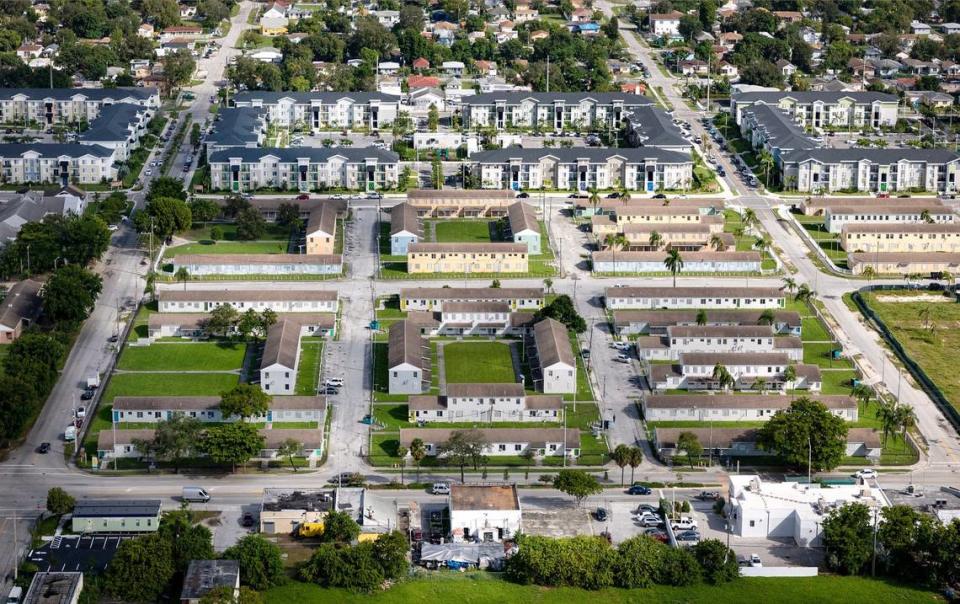
<svg viewBox="0 0 960 604"><path fill-rule="evenodd" d="M156 88L0 88L0 123L41 126L93 122L117 103L160 107Z"/></svg>

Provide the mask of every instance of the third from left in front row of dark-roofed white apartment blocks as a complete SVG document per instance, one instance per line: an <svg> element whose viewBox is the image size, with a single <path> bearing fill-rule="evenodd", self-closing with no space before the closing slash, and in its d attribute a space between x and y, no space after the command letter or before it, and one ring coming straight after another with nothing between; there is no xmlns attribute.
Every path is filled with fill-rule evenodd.
<svg viewBox="0 0 960 604"><path fill-rule="evenodd" d="M693 186L690 156L654 147L508 147L474 153L470 161L484 189L654 192Z"/></svg>

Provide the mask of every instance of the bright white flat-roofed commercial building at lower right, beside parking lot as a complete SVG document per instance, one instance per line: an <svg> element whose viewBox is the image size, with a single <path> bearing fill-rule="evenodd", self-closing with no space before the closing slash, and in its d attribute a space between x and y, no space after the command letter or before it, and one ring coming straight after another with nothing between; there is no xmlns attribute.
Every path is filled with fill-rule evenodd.
<svg viewBox="0 0 960 604"><path fill-rule="evenodd" d="M823 521L850 503L866 505L874 522L888 507L883 491L867 485L823 487L799 482L770 482L755 475L729 477L731 530L744 538L789 538L801 547L821 545Z"/></svg>

